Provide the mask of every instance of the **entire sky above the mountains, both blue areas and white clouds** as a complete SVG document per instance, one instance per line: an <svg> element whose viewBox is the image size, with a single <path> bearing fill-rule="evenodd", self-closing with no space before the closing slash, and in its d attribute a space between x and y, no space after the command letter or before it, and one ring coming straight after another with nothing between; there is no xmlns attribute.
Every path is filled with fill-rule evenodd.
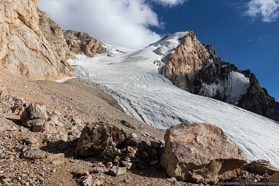
<svg viewBox="0 0 279 186"><path fill-rule="evenodd" d="M130 49L192 29L279 101L279 0L38 0L38 7L64 30Z"/></svg>

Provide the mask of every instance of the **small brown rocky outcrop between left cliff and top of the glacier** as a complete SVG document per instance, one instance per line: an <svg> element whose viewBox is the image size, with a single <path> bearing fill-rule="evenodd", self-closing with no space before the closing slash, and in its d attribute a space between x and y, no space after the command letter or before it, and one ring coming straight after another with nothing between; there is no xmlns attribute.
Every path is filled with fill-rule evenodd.
<svg viewBox="0 0 279 186"><path fill-rule="evenodd" d="M107 51L105 44L99 42L91 35L84 32L64 31L64 37L72 52L75 54L94 57Z"/></svg>

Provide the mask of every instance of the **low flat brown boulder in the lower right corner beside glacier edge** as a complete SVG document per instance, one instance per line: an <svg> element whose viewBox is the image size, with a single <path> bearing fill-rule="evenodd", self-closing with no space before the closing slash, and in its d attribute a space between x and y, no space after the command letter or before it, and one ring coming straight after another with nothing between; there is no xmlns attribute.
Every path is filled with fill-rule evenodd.
<svg viewBox="0 0 279 186"><path fill-rule="evenodd" d="M243 169L248 172L256 173L259 175L263 175L264 173L267 173L267 175L271 176L275 172L279 173L279 169L272 167L270 165L270 162L267 160L252 161L251 163L245 165Z"/></svg>

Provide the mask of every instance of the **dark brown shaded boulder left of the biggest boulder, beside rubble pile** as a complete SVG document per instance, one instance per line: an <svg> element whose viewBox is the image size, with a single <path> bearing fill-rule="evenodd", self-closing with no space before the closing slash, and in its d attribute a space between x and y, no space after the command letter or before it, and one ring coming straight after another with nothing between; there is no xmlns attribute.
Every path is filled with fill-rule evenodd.
<svg viewBox="0 0 279 186"><path fill-rule="evenodd" d="M112 124L86 125L75 149L76 156L100 154L106 147L115 147L128 139L129 133Z"/></svg>

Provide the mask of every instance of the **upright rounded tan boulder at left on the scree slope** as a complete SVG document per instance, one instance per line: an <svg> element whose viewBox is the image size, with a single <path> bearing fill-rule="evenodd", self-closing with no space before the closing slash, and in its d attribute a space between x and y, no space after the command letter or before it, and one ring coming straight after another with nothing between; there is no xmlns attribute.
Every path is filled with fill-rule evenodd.
<svg viewBox="0 0 279 186"><path fill-rule="evenodd" d="M47 110L41 103L31 103L20 116L22 125L27 128L33 128L40 125L47 117Z"/></svg>

